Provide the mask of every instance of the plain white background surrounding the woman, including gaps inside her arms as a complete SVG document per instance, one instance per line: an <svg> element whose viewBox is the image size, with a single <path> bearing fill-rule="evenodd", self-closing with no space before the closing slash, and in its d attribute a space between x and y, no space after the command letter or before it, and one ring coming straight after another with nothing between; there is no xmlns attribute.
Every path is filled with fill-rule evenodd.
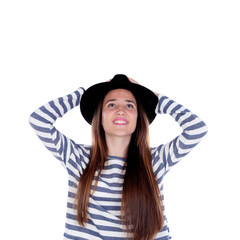
<svg viewBox="0 0 240 240"><path fill-rule="evenodd" d="M200 116L209 132L164 180L175 240L240 239L238 1L0 3L0 238L62 239L67 174L28 124L46 102L124 73ZM75 108L56 126L79 143ZM151 126L152 146L181 129Z"/></svg>

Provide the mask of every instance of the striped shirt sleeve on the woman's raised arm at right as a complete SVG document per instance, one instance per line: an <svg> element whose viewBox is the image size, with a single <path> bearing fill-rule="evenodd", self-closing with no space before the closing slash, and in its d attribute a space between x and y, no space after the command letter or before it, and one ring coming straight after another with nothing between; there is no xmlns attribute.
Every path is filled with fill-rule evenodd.
<svg viewBox="0 0 240 240"><path fill-rule="evenodd" d="M157 114L169 114L182 128L182 133L167 144L152 149L153 170L158 183L206 135L206 124L181 104L164 95L159 96Z"/></svg>

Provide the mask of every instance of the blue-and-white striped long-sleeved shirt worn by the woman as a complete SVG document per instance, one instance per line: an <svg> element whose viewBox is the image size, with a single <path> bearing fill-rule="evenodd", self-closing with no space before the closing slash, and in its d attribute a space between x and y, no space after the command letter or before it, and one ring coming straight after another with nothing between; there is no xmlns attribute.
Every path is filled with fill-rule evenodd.
<svg viewBox="0 0 240 240"><path fill-rule="evenodd" d="M89 198L88 223L80 226L73 208L79 179L90 157L90 146L77 144L54 127L57 118L80 103L83 88L60 97L34 111L30 125L45 147L65 167L68 173L68 198L64 239L123 240L127 239L121 222L121 199L126 159L108 156L100 174L96 191ZM153 172L163 198L162 180L179 160L188 154L207 133L205 123L188 109L164 95L159 96L157 114L170 114L182 128L182 133L167 144L151 148ZM95 177L97 176L97 172ZM93 180L92 186L94 186ZM164 201L163 201L164 207ZM163 208L164 209L164 208ZM164 226L155 239L171 239L164 210Z"/></svg>

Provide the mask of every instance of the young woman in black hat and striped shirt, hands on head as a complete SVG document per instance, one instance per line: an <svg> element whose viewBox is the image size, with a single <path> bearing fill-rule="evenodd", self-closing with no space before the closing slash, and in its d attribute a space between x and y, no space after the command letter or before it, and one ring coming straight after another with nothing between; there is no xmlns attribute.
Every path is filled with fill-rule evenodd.
<svg viewBox="0 0 240 240"><path fill-rule="evenodd" d="M78 105L92 126L91 146L75 143L53 125ZM148 127L156 114L170 114L183 132L150 148ZM118 74L50 101L29 121L68 172L64 239L171 239L162 180L206 134L195 114Z"/></svg>

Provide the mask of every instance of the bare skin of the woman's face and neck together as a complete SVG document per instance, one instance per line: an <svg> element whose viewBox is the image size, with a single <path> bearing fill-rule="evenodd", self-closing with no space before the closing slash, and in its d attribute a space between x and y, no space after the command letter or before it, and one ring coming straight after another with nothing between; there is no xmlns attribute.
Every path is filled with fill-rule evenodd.
<svg viewBox="0 0 240 240"><path fill-rule="evenodd" d="M137 103L126 89L110 91L104 98L102 126L105 131L108 155L126 157L132 133L137 124Z"/></svg>

